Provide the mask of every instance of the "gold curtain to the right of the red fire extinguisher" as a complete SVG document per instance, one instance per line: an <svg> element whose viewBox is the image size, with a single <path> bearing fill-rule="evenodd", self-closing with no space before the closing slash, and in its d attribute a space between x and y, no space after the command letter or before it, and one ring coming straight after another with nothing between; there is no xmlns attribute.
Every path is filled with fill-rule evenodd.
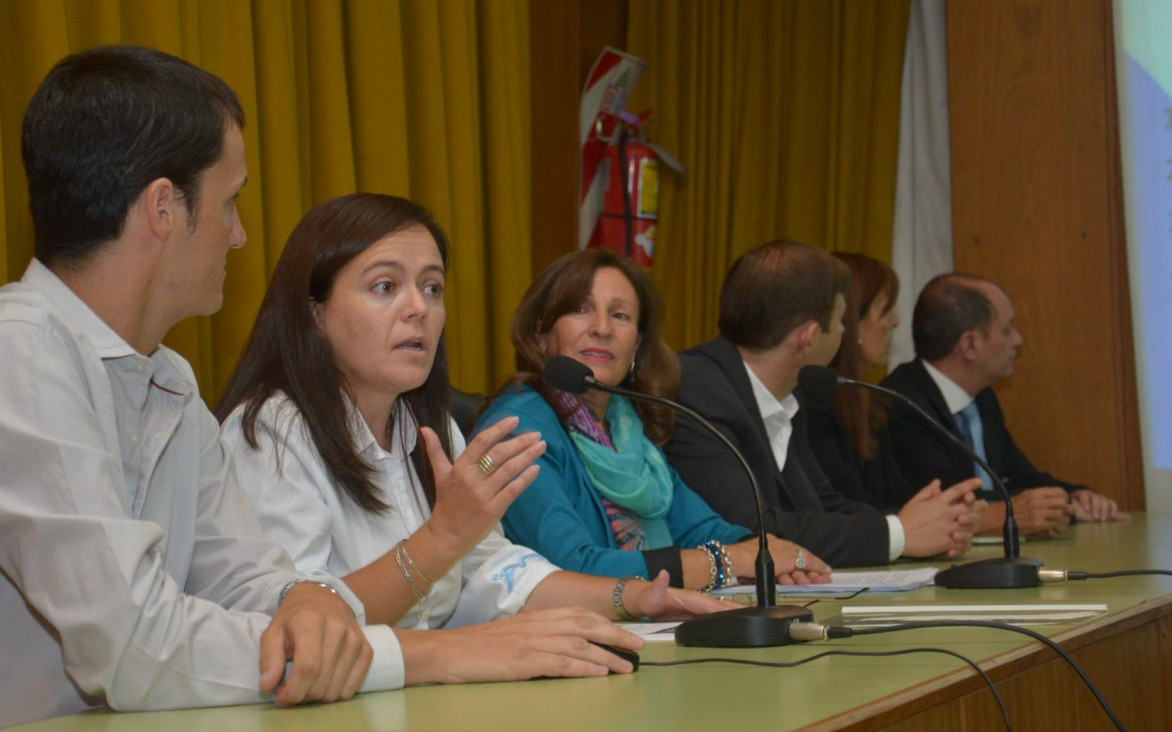
<svg viewBox="0 0 1172 732"><path fill-rule="evenodd" d="M627 108L660 175L653 274L683 348L716 333L724 272L789 237L891 260L908 0L631 0L647 61Z"/></svg>

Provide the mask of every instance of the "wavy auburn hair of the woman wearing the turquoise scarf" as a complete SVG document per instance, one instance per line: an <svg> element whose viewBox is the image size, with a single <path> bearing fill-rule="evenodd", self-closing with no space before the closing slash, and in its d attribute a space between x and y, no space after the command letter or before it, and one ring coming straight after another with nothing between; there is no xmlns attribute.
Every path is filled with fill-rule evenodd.
<svg viewBox="0 0 1172 732"><path fill-rule="evenodd" d="M553 391L541 381L547 356L537 338L547 333L559 317L586 301L594 286L594 273L606 268L621 272L639 297L640 342L635 351L635 371L626 383L661 397L675 396L680 385L680 363L663 341L663 302L652 279L629 259L608 249L566 254L546 267L529 287L509 330L517 351L518 374L513 383L533 388L563 423L572 410L553 398ZM672 438L674 415L670 410L642 402L635 402L634 408L643 422L643 432L653 443L662 445Z"/></svg>

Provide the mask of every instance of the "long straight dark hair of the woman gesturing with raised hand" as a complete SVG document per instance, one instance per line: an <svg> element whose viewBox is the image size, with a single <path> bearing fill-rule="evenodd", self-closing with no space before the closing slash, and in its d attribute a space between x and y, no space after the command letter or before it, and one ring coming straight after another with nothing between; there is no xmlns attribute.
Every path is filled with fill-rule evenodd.
<svg viewBox="0 0 1172 732"><path fill-rule="evenodd" d="M359 456L342 390L347 384L329 341L314 317L314 303L329 299L339 271L370 245L395 232L423 226L448 266L448 238L423 207L395 196L354 193L315 206L297 225L273 271L244 354L216 409L222 422L244 404L241 427L253 450L257 416L265 401L284 392L301 411L313 444L339 492L370 513L387 511L374 483L375 467ZM440 337L431 372L421 386L400 395L416 424L431 427L451 457L449 431L448 350ZM387 420L387 439L395 435L395 411ZM435 505L435 476L423 440L416 440L411 461L428 505Z"/></svg>

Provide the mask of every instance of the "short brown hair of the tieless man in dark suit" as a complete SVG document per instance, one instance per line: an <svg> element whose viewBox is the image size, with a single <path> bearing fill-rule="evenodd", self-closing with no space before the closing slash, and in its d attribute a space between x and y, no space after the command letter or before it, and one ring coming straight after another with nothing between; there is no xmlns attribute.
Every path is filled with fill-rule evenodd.
<svg viewBox="0 0 1172 732"><path fill-rule="evenodd" d="M770 241L745 252L724 275L720 329L737 346L768 350L806 321L830 330L834 299L850 289L845 267L829 253L790 239Z"/></svg>

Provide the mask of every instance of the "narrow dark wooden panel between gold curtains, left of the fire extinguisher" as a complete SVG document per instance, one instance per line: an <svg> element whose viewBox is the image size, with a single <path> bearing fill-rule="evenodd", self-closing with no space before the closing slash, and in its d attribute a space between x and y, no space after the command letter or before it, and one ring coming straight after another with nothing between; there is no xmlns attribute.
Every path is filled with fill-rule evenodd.
<svg viewBox="0 0 1172 732"><path fill-rule="evenodd" d="M606 46L624 48L627 0L530 0L533 275L578 239L578 103Z"/></svg>

